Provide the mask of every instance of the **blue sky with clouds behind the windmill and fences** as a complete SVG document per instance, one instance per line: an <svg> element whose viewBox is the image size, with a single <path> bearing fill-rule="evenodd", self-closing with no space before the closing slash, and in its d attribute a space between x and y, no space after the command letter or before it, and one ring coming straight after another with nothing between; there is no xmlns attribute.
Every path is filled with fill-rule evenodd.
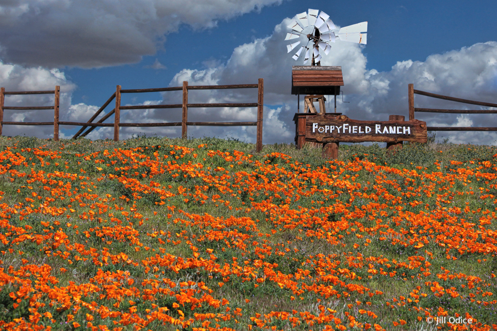
<svg viewBox="0 0 497 331"><path fill-rule="evenodd" d="M309 8L335 25L368 21L367 45L336 42L323 65L342 66L345 100L338 111L356 119L407 116L407 84L456 97L497 102L496 1L298 0L12 0L0 4L0 85L8 90L62 86L62 120L86 121L115 91L189 84L265 82L264 144L293 142L296 97L290 94L287 23ZM29 23L28 23L29 22ZM237 92L238 93L238 92ZM197 94L198 102L248 100L253 93ZM195 97L195 96L193 96ZM10 100L10 101L8 101ZM35 99L7 98L23 105ZM341 100L340 100L341 101ZM36 99L50 104L48 98ZM236 102L236 101L230 101ZM180 103L173 93L127 94L124 104ZM416 107L479 109L416 96ZM110 108L110 107L109 107ZM111 109L111 108L110 108ZM219 121L252 121L255 109L219 109ZM9 113L7 113L9 112ZM177 121L178 114L128 111L123 121ZM433 126L496 126L492 115L430 115ZM10 116L10 117L9 117ZM13 117L12 117L13 116ZM180 115L179 115L180 116ZM189 113L190 116L190 113ZM213 109L191 112L213 119ZM11 118L11 119L9 119ZM15 119L14 119L15 118ZM53 117L52 117L53 118ZM137 118L139 118L137 120ZM208 118L208 119L207 119ZM4 120L49 121L50 114L5 111ZM110 120L110 119L109 119ZM107 120L107 121L109 121ZM28 130L26 130L29 128ZM79 128L63 127L71 137ZM196 127L192 136L233 136L254 142L254 128ZM4 126L4 135L50 137L49 127ZM175 128L122 128L132 134L177 137ZM98 129L92 139L111 138ZM494 133L439 132L455 143L495 144Z"/></svg>

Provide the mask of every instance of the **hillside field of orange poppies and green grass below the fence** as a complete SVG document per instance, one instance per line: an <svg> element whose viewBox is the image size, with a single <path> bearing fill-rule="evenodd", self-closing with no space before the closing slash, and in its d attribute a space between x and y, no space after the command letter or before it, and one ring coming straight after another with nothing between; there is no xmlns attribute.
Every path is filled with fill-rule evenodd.
<svg viewBox="0 0 497 331"><path fill-rule="evenodd" d="M1 330L497 330L495 149L17 138Z"/></svg>

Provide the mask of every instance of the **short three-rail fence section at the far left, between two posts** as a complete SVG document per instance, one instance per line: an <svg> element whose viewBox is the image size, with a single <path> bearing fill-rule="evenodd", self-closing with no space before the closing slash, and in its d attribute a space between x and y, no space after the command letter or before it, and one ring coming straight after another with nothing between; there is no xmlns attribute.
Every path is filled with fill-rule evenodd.
<svg viewBox="0 0 497 331"><path fill-rule="evenodd" d="M53 91L23 91L23 92L5 92L4 87L0 87L0 136L2 134L2 129L4 125L53 125L54 126L54 140L59 140L59 98L60 98L60 86L55 86ZM54 94L54 105L53 106L27 106L27 107L13 107L5 106L5 95L12 94ZM42 110L42 109L53 109L54 110L54 121L53 122L4 122L3 121L3 110Z"/></svg>

